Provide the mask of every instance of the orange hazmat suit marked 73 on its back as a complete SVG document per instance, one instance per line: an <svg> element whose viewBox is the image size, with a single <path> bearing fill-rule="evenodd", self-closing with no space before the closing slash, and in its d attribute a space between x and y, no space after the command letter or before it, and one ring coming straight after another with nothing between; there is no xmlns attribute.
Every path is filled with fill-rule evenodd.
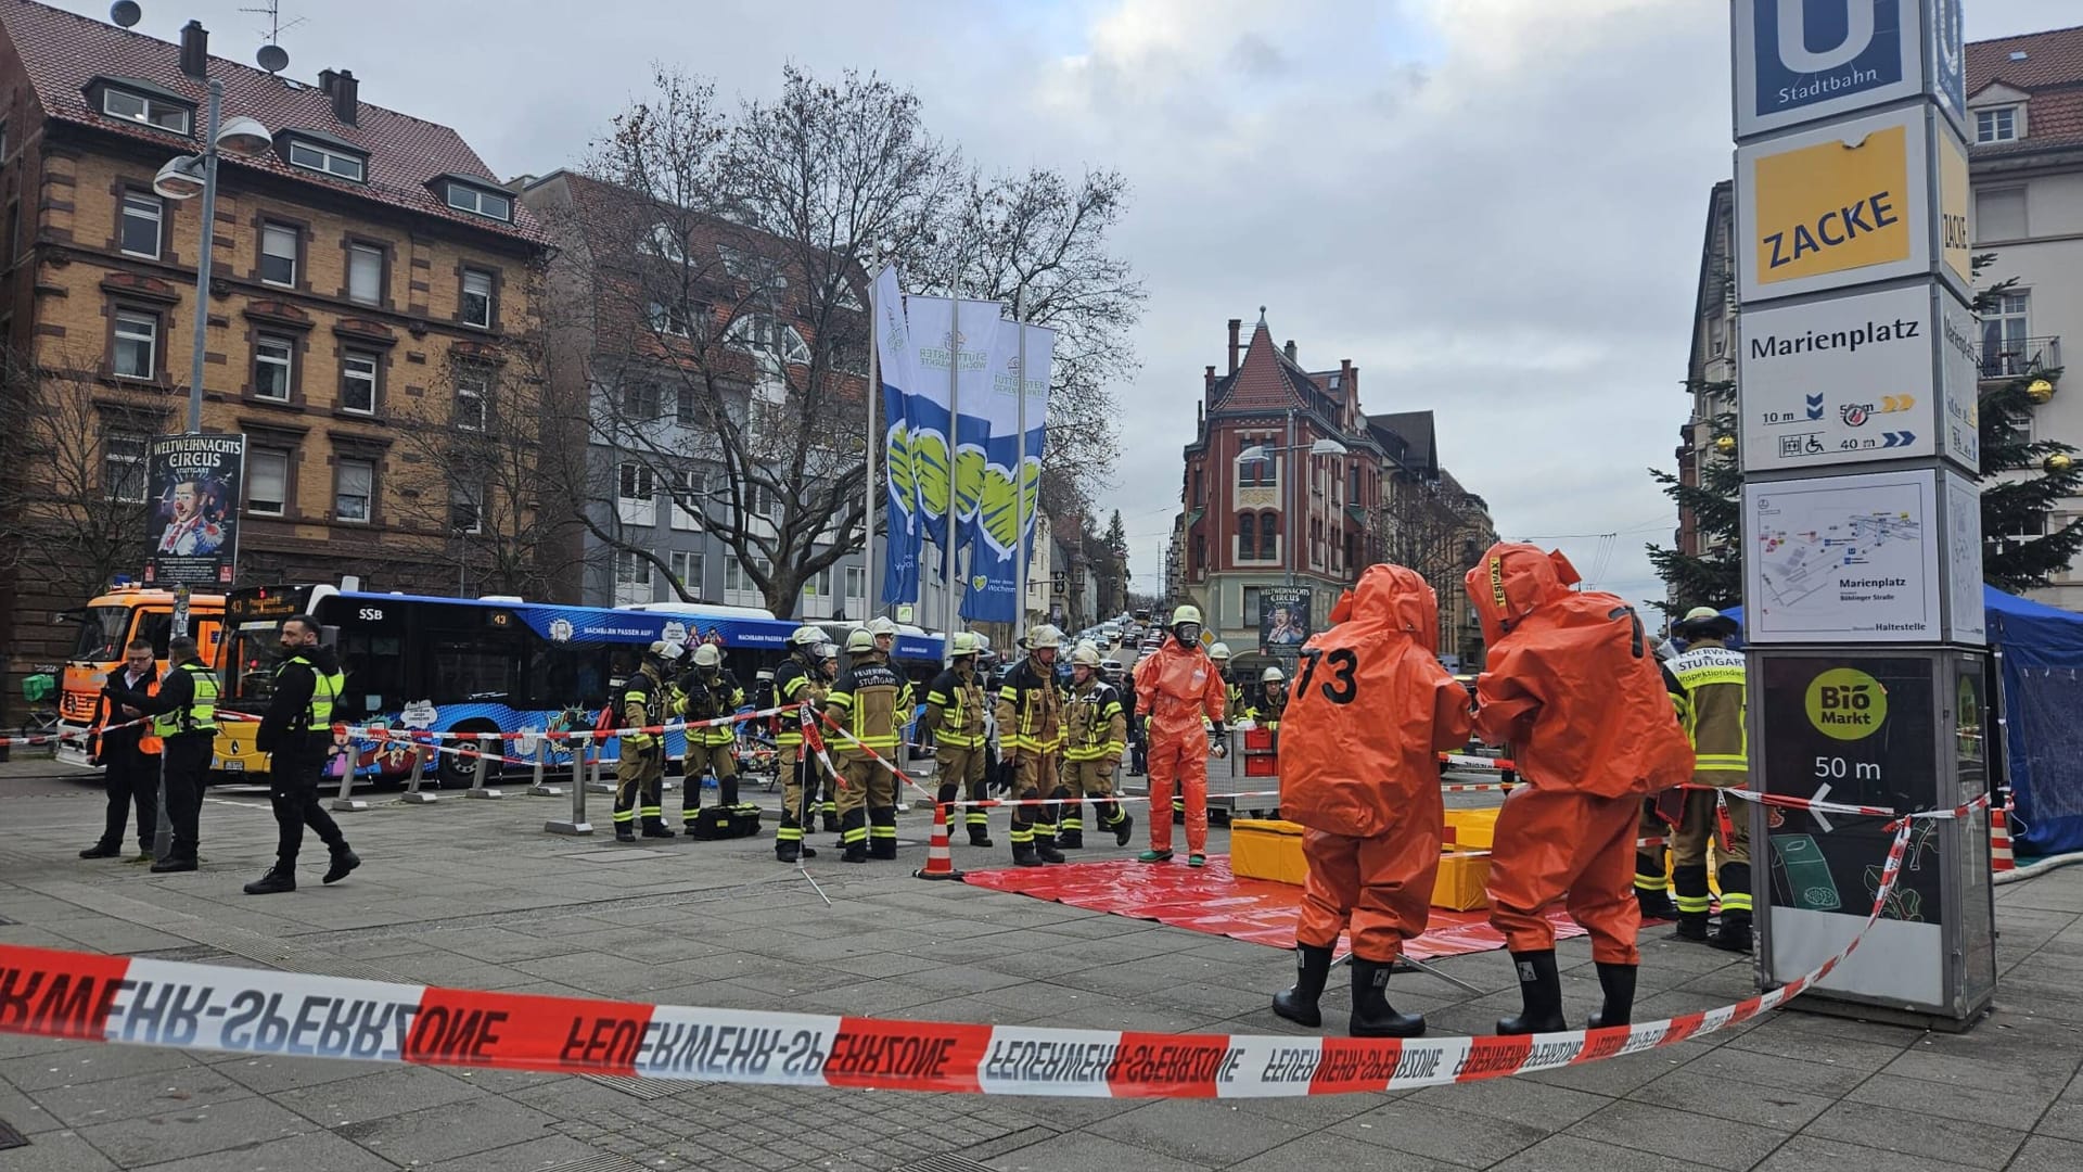
<svg viewBox="0 0 2083 1172"><path fill-rule="evenodd" d="M1360 576L1348 619L1302 646L1281 722L1281 815L1306 828L1296 943L1394 963L1431 920L1435 753L1469 742L1469 692L1439 665L1439 599L1414 571Z"/></svg>

